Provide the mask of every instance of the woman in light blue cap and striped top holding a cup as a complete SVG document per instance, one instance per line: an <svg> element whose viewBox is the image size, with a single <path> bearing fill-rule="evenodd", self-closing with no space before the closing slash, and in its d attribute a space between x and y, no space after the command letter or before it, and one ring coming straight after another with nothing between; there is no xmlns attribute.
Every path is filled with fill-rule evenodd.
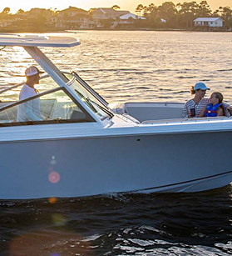
<svg viewBox="0 0 232 256"><path fill-rule="evenodd" d="M200 111L205 108L209 103L209 98L204 98L206 90L210 88L206 87L205 83L199 82L190 89L194 98L188 100L183 108L183 118L198 118Z"/></svg>

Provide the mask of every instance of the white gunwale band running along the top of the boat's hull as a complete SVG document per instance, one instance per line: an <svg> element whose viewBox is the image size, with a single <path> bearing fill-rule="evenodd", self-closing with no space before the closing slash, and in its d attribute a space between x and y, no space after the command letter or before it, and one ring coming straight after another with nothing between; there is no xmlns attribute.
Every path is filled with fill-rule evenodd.
<svg viewBox="0 0 232 256"><path fill-rule="evenodd" d="M232 120L230 120L230 124ZM80 127L81 124L81 127ZM79 128L77 127L79 126ZM27 129L25 129L27 127ZM193 133L230 133L232 128L226 126L225 128L215 128L215 126L206 128L193 128L188 129L165 129L166 125L161 126L159 130L154 130L151 126L145 126L144 128L138 126L129 126L121 128L102 128L98 123L49 123L46 125L39 125L40 136L37 136L35 131L38 131L38 125L22 125L16 127L2 127L2 133L0 135L0 143L14 143L14 142L31 142L31 141L57 141L65 139L91 139L91 138L119 138L119 137L135 137L141 139L141 136L160 136L160 135L175 135L175 134L193 134ZM7 133L4 133L4 129L7 129ZM11 128L9 130L9 128ZM28 129L29 128L29 129ZM94 128L94 131L93 131ZM13 131L12 131L13 129ZM9 132L10 131L10 132ZM21 136L19 136L21 133ZM85 133L85 134L84 134ZM68 134L68 135L67 135ZM13 138L15 136L15 138ZM2 137L2 138L1 138ZM138 141L139 143L140 141Z"/></svg>

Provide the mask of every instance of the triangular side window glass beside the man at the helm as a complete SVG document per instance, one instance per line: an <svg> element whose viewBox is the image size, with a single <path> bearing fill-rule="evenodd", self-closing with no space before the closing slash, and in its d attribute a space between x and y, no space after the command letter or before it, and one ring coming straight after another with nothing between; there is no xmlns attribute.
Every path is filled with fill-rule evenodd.
<svg viewBox="0 0 232 256"><path fill-rule="evenodd" d="M96 122L64 88L26 98L0 109L0 127L49 123Z"/></svg>

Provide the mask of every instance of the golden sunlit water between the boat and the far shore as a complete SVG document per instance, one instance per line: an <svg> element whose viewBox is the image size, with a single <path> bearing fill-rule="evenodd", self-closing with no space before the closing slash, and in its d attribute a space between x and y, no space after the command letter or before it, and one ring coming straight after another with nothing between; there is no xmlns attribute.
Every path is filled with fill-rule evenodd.
<svg viewBox="0 0 232 256"><path fill-rule="evenodd" d="M59 68L72 68L108 102L185 102L203 81L232 102L232 33L80 32L76 48L45 48ZM24 80L32 60L21 48L0 51L2 88ZM208 93L208 96L210 93Z"/></svg>

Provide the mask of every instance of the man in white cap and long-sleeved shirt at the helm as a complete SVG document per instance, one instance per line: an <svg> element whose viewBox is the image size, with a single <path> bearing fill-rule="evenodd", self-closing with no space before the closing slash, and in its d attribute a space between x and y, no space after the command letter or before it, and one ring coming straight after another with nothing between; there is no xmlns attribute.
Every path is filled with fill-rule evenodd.
<svg viewBox="0 0 232 256"><path fill-rule="evenodd" d="M34 86L39 83L40 73L42 72L39 71L39 69L35 66L30 66L26 69L25 75L27 81L22 86L18 98L19 101L37 95L38 91L36 88L34 88ZM34 98L18 105L17 122L42 121L43 119L44 116L42 116L40 111L39 98Z"/></svg>

